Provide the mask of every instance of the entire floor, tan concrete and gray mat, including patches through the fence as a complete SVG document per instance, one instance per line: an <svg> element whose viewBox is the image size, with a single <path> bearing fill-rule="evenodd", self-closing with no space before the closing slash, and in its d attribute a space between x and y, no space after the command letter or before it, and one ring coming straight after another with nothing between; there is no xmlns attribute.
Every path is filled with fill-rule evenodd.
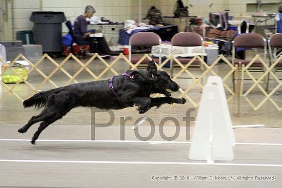
<svg viewBox="0 0 282 188"><path fill-rule="evenodd" d="M86 61L87 59L84 59ZM41 65L41 69L48 74L54 67L48 62ZM79 65L70 61L65 67L74 74ZM90 69L99 73L104 69L93 63ZM120 62L115 67L118 73L124 72L126 67ZM219 73L226 71L225 65L215 68ZM104 77L108 78L111 72ZM43 79L38 74L32 74L30 81L36 86ZM63 74L52 77L59 86L67 80ZM87 74L82 74L78 81L90 80ZM187 79L176 80L182 88L189 85ZM231 81L228 83L231 85ZM271 87L273 87L272 85ZM248 87L248 85L246 86ZM50 89L49 84L42 89ZM2 88L1 95L5 93ZM30 94L30 89L24 85L16 88L23 97ZM195 88L189 95L199 100L200 91ZM179 93L174 94L175 97ZM277 102L281 102L281 94L275 95ZM250 95L254 102L258 102L261 93ZM155 122L155 134L148 142L140 142L131 127L142 117L135 108L114 111L115 120L112 126L96 128L96 140L91 141L90 109L77 108L63 119L49 126L39 137L36 145L29 139L36 131L35 124L25 134L17 133L17 129L24 126L32 115L39 112L34 109L24 109L22 103L13 95L8 95L0 103L0 187L281 187L282 184L282 121L281 112L266 103L264 108L253 111L242 99L241 115L236 116L237 101L229 103L233 125L265 124L262 128L234 129L236 147L233 148L233 161L189 160L188 153L191 142L186 138L186 122L182 121L186 111L192 108L190 103L185 105L165 105L157 110L152 109L146 115ZM195 116L196 113L193 113ZM120 140L120 117L133 118L123 128L125 142ZM179 120L180 134L171 143L164 141L159 134L159 122L164 117L171 116ZM107 114L99 114L100 122L107 122ZM193 136L194 123L191 124ZM175 133L171 122L165 124L164 132L167 136ZM92 135L91 135L92 133ZM150 127L144 123L139 127L140 135L146 137ZM189 132L190 133L190 132ZM51 139L51 140L50 140ZM78 140L80 140L78 142ZM133 142L133 141L135 142ZM159 141L159 142L156 142ZM275 181L152 181L152 176L275 176Z"/></svg>

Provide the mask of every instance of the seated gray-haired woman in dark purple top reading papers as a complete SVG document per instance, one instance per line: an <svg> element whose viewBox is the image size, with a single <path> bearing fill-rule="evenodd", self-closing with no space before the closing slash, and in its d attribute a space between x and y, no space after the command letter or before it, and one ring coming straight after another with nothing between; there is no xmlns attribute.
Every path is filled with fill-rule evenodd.
<svg viewBox="0 0 282 188"><path fill-rule="evenodd" d="M91 32L87 30L86 18L91 18L95 12L95 9L91 5L88 5L85 8L84 14L79 15L75 19L73 25L74 41L82 45L89 45L90 51L94 53L98 53L99 51L100 53L108 55L118 55L119 53L122 53L120 51L111 51L104 37L89 37ZM96 49L96 46L98 49Z"/></svg>

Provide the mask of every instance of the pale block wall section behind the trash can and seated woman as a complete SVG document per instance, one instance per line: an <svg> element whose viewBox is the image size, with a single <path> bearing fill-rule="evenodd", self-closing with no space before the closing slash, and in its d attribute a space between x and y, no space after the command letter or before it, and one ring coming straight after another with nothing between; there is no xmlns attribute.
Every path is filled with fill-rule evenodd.
<svg viewBox="0 0 282 188"><path fill-rule="evenodd" d="M63 11L73 23L78 15L84 13L87 5L92 5L96 9L94 15L106 17L114 22L138 19L138 0L42 0L42 7L40 7L40 1L16 0L14 1L14 32L32 28L33 23L29 21L32 11ZM63 32L67 31L67 27L63 25Z"/></svg>

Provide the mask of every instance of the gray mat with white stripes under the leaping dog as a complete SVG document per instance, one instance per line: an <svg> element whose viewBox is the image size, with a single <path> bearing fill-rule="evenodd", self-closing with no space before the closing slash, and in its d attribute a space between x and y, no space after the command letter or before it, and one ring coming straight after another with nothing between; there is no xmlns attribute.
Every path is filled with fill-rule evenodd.
<svg viewBox="0 0 282 188"><path fill-rule="evenodd" d="M206 161L188 159L190 143L185 142L184 129L180 131L182 134L178 142L154 142L163 141L158 133L150 140L151 143L119 142L119 127L112 126L100 128L96 132L99 135L97 139L116 138L116 142L99 142L89 141L90 126L57 124L42 134L42 141L32 145L28 139L37 126L23 135L16 133L19 127L21 124L1 124L0 182L4 187L280 187L282 183L282 145L265 145L280 143L282 130L277 128L235 129L235 159L206 164ZM137 140L130 128L125 128L126 140ZM148 126L141 126L140 134L146 135L149 129ZM172 127L165 129L166 133L173 130ZM11 140L15 138L21 140ZM275 181L151 180L151 176L163 175L258 175L275 176Z"/></svg>

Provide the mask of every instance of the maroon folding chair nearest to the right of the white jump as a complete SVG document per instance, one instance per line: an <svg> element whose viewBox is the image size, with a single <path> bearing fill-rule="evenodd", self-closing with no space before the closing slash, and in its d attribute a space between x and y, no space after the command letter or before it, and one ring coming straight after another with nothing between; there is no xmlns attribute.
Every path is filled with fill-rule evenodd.
<svg viewBox="0 0 282 188"><path fill-rule="evenodd" d="M269 62L266 59L267 55L267 44L266 39L257 33L244 33L240 34L232 41L232 64L238 65L241 62L241 65L247 66L252 59L236 59L235 58L235 50L238 48L243 48L243 50L250 50L250 49L264 49L264 60L266 61L267 65L269 66ZM264 72L265 67L259 61L255 60L253 64L248 68L250 72ZM251 79L245 79L251 80ZM269 83L269 74L267 78L264 79L266 83L266 90L268 90L268 83ZM235 73L233 73L233 90L235 90Z"/></svg>

